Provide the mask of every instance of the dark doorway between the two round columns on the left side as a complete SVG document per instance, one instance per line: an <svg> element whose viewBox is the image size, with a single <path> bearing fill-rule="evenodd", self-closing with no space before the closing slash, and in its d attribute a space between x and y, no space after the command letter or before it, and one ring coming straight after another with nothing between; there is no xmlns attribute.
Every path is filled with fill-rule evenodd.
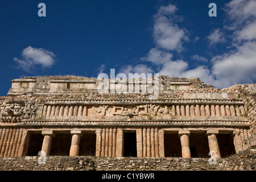
<svg viewBox="0 0 256 182"><path fill-rule="evenodd" d="M52 137L52 145L49 155L69 156L71 140L72 135L70 133L56 134L55 137Z"/></svg>

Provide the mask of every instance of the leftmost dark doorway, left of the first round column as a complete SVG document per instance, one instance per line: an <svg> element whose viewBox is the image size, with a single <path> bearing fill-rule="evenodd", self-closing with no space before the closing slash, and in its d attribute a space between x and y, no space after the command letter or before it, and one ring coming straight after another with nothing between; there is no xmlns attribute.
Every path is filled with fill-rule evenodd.
<svg viewBox="0 0 256 182"><path fill-rule="evenodd" d="M30 134L30 143L28 144L27 156L37 156L42 150L44 136L40 134Z"/></svg>

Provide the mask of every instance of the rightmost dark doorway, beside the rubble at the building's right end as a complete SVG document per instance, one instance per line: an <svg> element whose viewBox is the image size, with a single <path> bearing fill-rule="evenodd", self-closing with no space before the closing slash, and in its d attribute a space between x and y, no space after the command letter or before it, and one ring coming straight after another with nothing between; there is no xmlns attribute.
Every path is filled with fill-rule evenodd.
<svg viewBox="0 0 256 182"><path fill-rule="evenodd" d="M218 147L220 148L221 158L236 154L233 137L230 134L218 134Z"/></svg>

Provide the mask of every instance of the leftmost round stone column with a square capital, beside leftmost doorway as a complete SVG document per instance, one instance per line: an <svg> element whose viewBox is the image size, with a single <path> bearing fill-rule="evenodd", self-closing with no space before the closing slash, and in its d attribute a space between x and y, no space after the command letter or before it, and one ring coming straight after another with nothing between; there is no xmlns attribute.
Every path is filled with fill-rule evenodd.
<svg viewBox="0 0 256 182"><path fill-rule="evenodd" d="M52 130L43 130L42 135L44 135L44 140L41 151L46 152L46 156L49 156L49 153L51 151L52 137L55 137L55 133L53 133ZM44 155L44 152L41 152L41 156Z"/></svg>

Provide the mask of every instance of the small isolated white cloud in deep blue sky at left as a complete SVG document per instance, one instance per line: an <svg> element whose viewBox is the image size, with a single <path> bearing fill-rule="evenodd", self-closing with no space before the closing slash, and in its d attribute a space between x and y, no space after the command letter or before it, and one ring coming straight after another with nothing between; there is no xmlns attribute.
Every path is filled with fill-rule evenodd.
<svg viewBox="0 0 256 182"><path fill-rule="evenodd" d="M18 68L30 71L35 65L41 65L42 68L51 68L55 63L54 57L55 55L51 51L28 46L22 51L22 59L14 57L14 61L18 63Z"/></svg>

